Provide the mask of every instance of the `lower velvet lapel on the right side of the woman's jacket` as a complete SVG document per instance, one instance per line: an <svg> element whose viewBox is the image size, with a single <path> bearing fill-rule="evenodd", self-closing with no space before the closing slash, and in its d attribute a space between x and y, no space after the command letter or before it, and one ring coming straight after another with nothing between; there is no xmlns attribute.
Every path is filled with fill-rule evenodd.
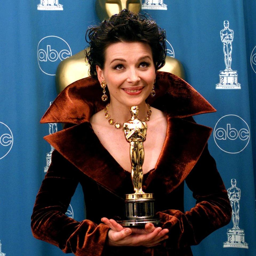
<svg viewBox="0 0 256 256"><path fill-rule="evenodd" d="M212 129L180 118L167 118L167 134L155 170L145 175L143 189L170 193L187 177L210 137Z"/></svg>

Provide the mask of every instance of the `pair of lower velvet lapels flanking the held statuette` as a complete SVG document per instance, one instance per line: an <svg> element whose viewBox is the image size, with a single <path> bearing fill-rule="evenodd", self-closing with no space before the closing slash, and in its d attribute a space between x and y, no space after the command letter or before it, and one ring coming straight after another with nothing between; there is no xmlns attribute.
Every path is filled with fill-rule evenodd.
<svg viewBox="0 0 256 256"><path fill-rule="evenodd" d="M161 188L162 193L175 189L194 167L210 134L209 127L184 119L167 118L165 143L155 170L144 177L145 191L152 186ZM123 170L102 146L90 123L81 123L44 138L107 190L119 197L133 193L130 173Z"/></svg>

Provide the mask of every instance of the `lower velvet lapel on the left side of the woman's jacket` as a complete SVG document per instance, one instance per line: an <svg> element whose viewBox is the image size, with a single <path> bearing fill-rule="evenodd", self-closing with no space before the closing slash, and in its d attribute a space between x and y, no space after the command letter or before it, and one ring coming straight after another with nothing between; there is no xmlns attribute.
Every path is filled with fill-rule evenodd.
<svg viewBox="0 0 256 256"><path fill-rule="evenodd" d="M133 193L130 173L113 161L89 122L47 135L44 139L79 170L110 192L121 198L127 191Z"/></svg>

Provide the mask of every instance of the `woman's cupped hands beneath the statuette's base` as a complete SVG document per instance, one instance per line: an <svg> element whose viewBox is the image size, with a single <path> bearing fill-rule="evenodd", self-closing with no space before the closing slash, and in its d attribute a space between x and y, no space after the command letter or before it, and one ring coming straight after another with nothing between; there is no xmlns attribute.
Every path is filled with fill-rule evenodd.
<svg viewBox="0 0 256 256"><path fill-rule="evenodd" d="M146 246L152 247L160 245L161 241L168 238L169 230L155 227L152 223L147 223L145 229L124 228L113 219L102 218L110 227L108 238L110 246Z"/></svg>

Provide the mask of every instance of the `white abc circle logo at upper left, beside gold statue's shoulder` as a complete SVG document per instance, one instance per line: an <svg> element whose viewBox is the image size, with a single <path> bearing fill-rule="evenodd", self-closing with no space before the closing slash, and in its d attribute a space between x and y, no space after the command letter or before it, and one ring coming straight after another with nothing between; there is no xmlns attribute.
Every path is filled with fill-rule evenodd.
<svg viewBox="0 0 256 256"><path fill-rule="evenodd" d="M59 62L71 55L68 43L54 35L42 38L37 46L38 65L47 75L55 75Z"/></svg>

